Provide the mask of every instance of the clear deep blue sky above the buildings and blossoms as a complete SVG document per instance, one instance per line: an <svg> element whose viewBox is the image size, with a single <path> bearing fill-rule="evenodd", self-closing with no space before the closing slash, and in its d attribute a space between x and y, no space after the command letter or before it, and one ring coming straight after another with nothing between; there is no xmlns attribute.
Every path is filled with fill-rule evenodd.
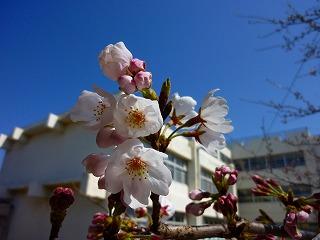
<svg viewBox="0 0 320 240"><path fill-rule="evenodd" d="M313 1L293 1L305 8ZM96 83L116 91L97 62L109 43L124 41L134 56L147 62L159 89L166 77L180 95L200 104L209 89L220 88L230 105L235 130L229 138L261 134L262 118L274 113L241 98L280 100L284 92L266 78L290 84L297 55L281 49L257 51L281 42L281 36L261 39L268 25L251 25L241 15L282 16L287 1L279 0L12 0L0 4L0 132L9 134L63 113L83 89ZM311 99L319 81L299 79ZM289 99L290 102L290 99ZM271 131L309 126L320 132L319 118L281 124ZM1 153L0 153L1 155Z"/></svg>

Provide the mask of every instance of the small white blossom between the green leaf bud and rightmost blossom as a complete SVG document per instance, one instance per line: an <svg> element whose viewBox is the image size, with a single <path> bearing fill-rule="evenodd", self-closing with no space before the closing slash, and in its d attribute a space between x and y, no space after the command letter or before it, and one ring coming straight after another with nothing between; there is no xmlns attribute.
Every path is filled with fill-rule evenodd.
<svg viewBox="0 0 320 240"><path fill-rule="evenodd" d="M172 104L175 111L175 116L173 116L173 112L171 113L171 117L176 117L177 119L173 119L173 121L181 121L181 124L185 123L189 119L198 115L196 111L194 111L197 102L189 96L180 97L179 93L174 93L172 96Z"/></svg>

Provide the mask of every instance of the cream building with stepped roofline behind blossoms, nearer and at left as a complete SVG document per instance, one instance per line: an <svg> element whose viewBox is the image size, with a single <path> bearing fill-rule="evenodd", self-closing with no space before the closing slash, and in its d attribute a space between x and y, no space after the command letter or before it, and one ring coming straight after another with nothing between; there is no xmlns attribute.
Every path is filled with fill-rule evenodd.
<svg viewBox="0 0 320 240"><path fill-rule="evenodd" d="M48 199L59 185L76 190L61 239L85 238L93 214L106 207L106 192L97 188L97 178L81 164L90 153L108 151L96 146L95 135L55 114L34 126L16 127L10 136L0 135L0 147L5 149L0 172L0 239L48 238ZM230 151L226 148L212 156L200 144L181 137L169 145L168 155L165 164L173 176L168 198L176 208L171 221L200 225L221 220L211 208L202 217L186 215L185 206L190 190L215 191L211 173L225 164L222 159L231 158Z"/></svg>

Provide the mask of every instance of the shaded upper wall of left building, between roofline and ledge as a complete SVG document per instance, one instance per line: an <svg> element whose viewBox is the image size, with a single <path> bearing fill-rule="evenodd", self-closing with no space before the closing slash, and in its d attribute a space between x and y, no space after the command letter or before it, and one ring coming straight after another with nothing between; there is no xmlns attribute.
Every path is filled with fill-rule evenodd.
<svg viewBox="0 0 320 240"><path fill-rule="evenodd" d="M29 182L64 182L81 179L81 161L91 152L100 152L94 132L77 125L61 131L47 131L12 145L5 155L0 184L26 185Z"/></svg>

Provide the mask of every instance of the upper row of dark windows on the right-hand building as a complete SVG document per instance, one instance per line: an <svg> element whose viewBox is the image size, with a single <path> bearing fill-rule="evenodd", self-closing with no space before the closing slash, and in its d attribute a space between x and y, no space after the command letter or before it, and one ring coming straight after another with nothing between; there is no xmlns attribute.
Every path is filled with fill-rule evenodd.
<svg viewBox="0 0 320 240"><path fill-rule="evenodd" d="M235 160L236 169L239 171L254 171L304 165L305 159L302 151L273 155L270 157L263 156Z"/></svg>

